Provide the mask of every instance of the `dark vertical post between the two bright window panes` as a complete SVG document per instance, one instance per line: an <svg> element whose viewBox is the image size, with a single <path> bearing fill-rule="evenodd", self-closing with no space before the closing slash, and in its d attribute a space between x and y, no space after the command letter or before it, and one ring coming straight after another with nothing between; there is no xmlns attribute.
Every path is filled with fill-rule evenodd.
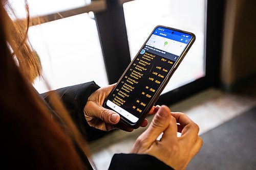
<svg viewBox="0 0 256 170"><path fill-rule="evenodd" d="M106 0L107 9L95 13L109 83L115 83L131 62L123 7Z"/></svg>

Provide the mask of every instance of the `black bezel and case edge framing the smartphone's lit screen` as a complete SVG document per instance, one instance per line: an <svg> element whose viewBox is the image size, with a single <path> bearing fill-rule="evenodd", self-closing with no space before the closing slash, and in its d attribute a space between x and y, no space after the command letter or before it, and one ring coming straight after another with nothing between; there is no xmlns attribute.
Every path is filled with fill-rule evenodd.
<svg viewBox="0 0 256 170"><path fill-rule="evenodd" d="M148 39L150 39L150 37L152 36L152 34L154 33L154 31L158 28L158 27L162 27L162 28L166 28L169 30L174 30L177 32L181 32L184 34L189 34L191 36L190 41L188 42L187 46L184 48L183 52L181 53L180 57L178 58L178 60L175 62L175 64L173 65L173 67L170 69L170 71L168 72L167 76L164 78L163 83L160 85L159 89L157 90L157 92L154 94L154 96L152 96L152 100L150 101L150 103L148 103L148 105L146 106L146 108L144 109L144 112L141 114L141 116L139 117L138 121L136 123L132 123L129 119L126 119L125 117L123 117L121 114L120 118L121 118L121 122L123 122L125 125L132 127L133 129L137 129L142 121L144 120L144 118L146 117L146 115L148 114L148 112L150 111L150 109L154 106L154 104L156 103L156 101L158 100L161 92L163 91L164 87L166 86L166 84L168 83L170 77L172 77L172 75L174 74L175 70L177 69L177 67L179 66L179 64L181 63L181 61L183 60L183 58L185 57L186 53L188 52L189 48L191 47L191 45L195 42L196 36L193 33L190 32L186 32L186 31L182 31L179 29L174 29L174 28L170 28L170 27L166 27L166 26L156 26L153 31L151 32L151 34L148 36L148 38L146 39L146 41L143 43L143 45L141 46L139 52L136 54L136 56L134 57L134 59L131 61L131 63L127 66L127 68L125 69L125 71L123 72L122 76L120 77L120 79L118 80L117 84L115 85L115 87L112 89L112 91L110 92L110 95L112 94L112 92L116 89L116 86L120 83L121 79L123 78L123 76L125 75L126 71L129 70L129 67L133 64L133 62L137 59L140 51L142 50L142 48L145 46L146 42L148 41ZM109 96L110 96L109 95ZM108 105L106 105L106 101L109 100L109 96L108 98L105 99L103 107L107 108L107 109L111 109Z"/></svg>

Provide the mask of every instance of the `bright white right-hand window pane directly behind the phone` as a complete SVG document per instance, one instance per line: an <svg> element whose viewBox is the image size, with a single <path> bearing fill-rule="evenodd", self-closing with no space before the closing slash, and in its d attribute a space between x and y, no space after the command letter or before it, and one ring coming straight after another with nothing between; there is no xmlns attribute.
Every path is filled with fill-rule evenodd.
<svg viewBox="0 0 256 170"><path fill-rule="evenodd" d="M204 0L137 0L124 3L123 11L132 59L157 25L192 32L196 35L195 43L166 85L163 93L205 75L206 16Z"/></svg>

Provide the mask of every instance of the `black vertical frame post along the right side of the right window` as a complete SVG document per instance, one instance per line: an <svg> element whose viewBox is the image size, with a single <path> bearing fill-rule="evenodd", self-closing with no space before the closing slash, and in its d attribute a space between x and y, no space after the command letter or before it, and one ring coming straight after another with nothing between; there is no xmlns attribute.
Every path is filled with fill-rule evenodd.
<svg viewBox="0 0 256 170"><path fill-rule="evenodd" d="M225 4L226 1L207 1L206 77L214 87L220 87Z"/></svg>

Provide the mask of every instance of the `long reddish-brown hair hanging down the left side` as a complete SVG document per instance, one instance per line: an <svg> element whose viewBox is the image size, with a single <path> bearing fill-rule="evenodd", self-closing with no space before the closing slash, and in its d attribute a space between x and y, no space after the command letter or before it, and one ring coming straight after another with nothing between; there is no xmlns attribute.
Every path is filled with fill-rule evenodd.
<svg viewBox="0 0 256 170"><path fill-rule="evenodd" d="M51 105L66 125L69 134L51 118L47 106L30 84L40 75L41 68L39 59L26 41L29 23L24 25L12 21L4 6L6 4L1 1L2 166L9 169L91 169L89 161L83 164L77 153L74 142L86 152L85 143L57 94L50 94L53 99L51 101L54 101Z"/></svg>

